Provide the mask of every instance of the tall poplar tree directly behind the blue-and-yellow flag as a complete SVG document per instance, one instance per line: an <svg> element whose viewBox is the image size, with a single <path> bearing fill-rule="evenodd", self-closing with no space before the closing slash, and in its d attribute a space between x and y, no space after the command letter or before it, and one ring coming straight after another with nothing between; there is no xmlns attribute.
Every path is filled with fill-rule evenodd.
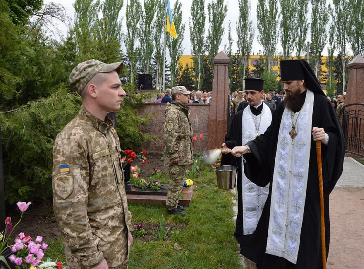
<svg viewBox="0 0 364 269"><path fill-rule="evenodd" d="M167 35L167 47L171 57L171 87L175 85L178 76L178 60L183 53L182 40L185 34L185 24L182 23L182 4L177 0L172 9L172 18L176 27L177 38Z"/></svg>

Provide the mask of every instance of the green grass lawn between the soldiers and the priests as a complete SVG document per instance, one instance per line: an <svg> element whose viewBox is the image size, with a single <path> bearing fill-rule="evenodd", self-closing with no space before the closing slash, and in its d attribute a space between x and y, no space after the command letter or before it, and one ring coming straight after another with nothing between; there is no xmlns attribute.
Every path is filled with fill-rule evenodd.
<svg viewBox="0 0 364 269"><path fill-rule="evenodd" d="M163 218L165 225L175 224L169 239L144 242L134 238L128 269L241 269L233 237L233 193L217 188L215 172L207 165L202 165L193 183L186 217L168 215L162 205L128 204L133 224L159 226ZM65 261L62 239L49 245L46 255Z"/></svg>

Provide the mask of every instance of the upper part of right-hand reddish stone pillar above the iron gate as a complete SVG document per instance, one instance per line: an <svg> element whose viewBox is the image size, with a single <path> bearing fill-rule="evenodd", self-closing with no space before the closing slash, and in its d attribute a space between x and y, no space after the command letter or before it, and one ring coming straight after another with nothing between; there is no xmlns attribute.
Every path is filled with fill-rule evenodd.
<svg viewBox="0 0 364 269"><path fill-rule="evenodd" d="M349 80L347 83L345 105L364 104L364 58L356 56L347 65Z"/></svg>

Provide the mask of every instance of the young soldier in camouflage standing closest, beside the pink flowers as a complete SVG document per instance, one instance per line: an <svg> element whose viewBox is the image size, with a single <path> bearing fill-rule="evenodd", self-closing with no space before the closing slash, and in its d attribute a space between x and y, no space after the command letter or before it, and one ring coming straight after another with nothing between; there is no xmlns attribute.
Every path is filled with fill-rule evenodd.
<svg viewBox="0 0 364 269"><path fill-rule="evenodd" d="M131 214L120 163L120 142L107 112L126 95L123 63L80 63L69 86L82 98L78 115L53 147L53 208L72 269L127 269Z"/></svg>

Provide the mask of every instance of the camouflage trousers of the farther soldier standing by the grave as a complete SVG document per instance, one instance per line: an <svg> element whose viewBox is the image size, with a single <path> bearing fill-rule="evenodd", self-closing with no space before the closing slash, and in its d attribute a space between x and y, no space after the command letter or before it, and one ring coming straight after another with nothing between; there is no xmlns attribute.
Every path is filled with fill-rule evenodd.
<svg viewBox="0 0 364 269"><path fill-rule="evenodd" d="M187 165L169 165L169 185L166 205L167 209L171 210L177 207L178 198L183 188L183 183L186 179L186 168Z"/></svg>

